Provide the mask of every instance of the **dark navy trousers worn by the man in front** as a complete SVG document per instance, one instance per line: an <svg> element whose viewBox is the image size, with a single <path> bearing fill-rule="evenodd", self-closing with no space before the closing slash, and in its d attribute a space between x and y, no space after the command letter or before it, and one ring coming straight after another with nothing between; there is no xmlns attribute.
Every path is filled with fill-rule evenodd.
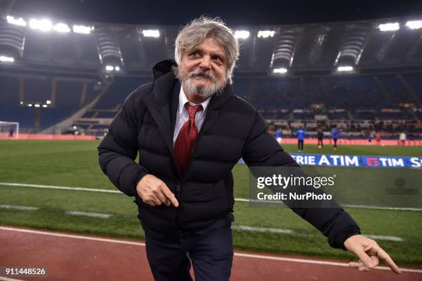
<svg viewBox="0 0 422 281"><path fill-rule="evenodd" d="M229 280L233 262L231 222L202 232L162 234L145 230L145 246L154 280Z"/></svg>

